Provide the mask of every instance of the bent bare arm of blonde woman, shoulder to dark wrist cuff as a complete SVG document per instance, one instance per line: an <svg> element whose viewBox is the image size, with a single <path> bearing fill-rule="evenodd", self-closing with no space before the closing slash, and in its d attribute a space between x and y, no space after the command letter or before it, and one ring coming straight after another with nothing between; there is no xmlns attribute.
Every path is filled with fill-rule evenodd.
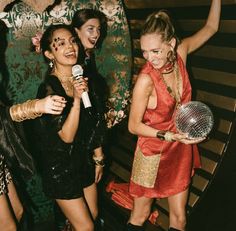
<svg viewBox="0 0 236 231"><path fill-rule="evenodd" d="M135 135L155 137L157 130L142 122L154 85L150 76L140 74L133 90L128 128Z"/></svg>

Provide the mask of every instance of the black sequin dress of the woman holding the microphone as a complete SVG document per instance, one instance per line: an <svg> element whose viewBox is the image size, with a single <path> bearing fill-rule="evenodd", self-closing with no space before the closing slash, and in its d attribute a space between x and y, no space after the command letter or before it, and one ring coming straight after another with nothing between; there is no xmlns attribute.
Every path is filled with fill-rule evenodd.
<svg viewBox="0 0 236 231"><path fill-rule="evenodd" d="M93 85L92 79L89 85ZM89 90L92 110L81 103L79 128L73 143L63 142L58 131L66 120L73 99L66 95L57 77L49 75L40 85L38 98L57 94L67 105L61 115L43 115L34 122L35 149L42 173L45 194L53 199L73 199L83 196L83 188L94 183L93 150L100 147L105 136L104 114L98 108L95 88Z"/></svg>

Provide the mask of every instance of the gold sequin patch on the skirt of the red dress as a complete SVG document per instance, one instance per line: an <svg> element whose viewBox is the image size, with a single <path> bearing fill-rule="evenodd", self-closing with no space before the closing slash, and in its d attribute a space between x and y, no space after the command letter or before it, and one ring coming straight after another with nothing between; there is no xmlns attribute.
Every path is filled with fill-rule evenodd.
<svg viewBox="0 0 236 231"><path fill-rule="evenodd" d="M146 188L153 188L156 181L160 158L161 154L145 156L142 151L137 148L133 162L131 180Z"/></svg>

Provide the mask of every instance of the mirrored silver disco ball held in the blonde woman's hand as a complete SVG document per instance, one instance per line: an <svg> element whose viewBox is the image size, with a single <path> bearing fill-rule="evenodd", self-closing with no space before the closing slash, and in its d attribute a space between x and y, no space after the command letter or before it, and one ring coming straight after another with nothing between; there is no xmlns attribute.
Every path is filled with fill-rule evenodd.
<svg viewBox="0 0 236 231"><path fill-rule="evenodd" d="M187 134L189 139L206 137L213 124L214 118L210 108L199 101L181 105L175 117L177 131Z"/></svg>

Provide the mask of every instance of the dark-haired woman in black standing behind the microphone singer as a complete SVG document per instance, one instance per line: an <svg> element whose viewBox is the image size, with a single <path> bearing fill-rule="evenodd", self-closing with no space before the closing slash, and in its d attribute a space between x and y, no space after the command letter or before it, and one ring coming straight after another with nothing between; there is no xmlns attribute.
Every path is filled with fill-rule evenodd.
<svg viewBox="0 0 236 231"><path fill-rule="evenodd" d="M81 9L75 12L71 25L79 37L80 56L78 63L84 69L84 76L88 78L89 97L92 102L93 118L95 130L93 127L86 128L88 131L88 138L94 134L90 143L85 144L86 149L94 150L95 158L103 163L104 154L102 145L106 134L106 100L108 97L108 87L104 78L98 73L94 49L100 48L107 32L107 19L106 16L95 9ZM85 118L86 119L86 118ZM86 123L85 126L88 126ZM102 164L103 165L103 164ZM87 202L90 212L94 220L98 217L97 205L97 187L96 183L99 182L103 174L102 165L95 165L95 181L94 184L88 189Z"/></svg>

